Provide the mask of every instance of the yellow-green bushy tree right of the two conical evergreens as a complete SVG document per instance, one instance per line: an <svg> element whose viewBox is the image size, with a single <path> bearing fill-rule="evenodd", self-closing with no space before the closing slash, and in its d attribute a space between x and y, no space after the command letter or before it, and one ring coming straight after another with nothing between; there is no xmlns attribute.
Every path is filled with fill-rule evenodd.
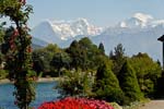
<svg viewBox="0 0 164 109"><path fill-rule="evenodd" d="M161 77L162 68L154 62L147 53L138 53L130 59L134 69L141 92L145 97L153 97L156 81Z"/></svg>

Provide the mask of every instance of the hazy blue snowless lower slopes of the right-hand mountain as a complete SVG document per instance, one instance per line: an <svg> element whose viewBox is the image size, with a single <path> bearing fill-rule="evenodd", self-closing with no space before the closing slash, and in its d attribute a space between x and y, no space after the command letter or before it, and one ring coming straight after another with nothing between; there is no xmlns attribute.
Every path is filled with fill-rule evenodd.
<svg viewBox="0 0 164 109"><path fill-rule="evenodd" d="M108 28L112 32L114 28ZM118 44L122 44L128 56L137 55L138 52L147 52L154 60L162 59L162 44L157 40L164 34L164 26L159 25L151 28L142 28L134 31L132 28L119 29L118 34L104 32L92 38L93 43L98 45L103 43L105 46L106 55Z"/></svg>

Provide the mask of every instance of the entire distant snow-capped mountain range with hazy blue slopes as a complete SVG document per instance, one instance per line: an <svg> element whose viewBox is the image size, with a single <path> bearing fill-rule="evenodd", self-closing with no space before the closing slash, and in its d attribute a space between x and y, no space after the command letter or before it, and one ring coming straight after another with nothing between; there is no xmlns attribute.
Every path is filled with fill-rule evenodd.
<svg viewBox="0 0 164 109"><path fill-rule="evenodd" d="M154 60L162 57L162 45L157 38L164 34L164 20L155 20L143 13L124 20L114 27L97 27L86 19L75 21L45 21L33 28L37 45L57 44L68 47L74 39L89 37L96 45L103 43L106 53L109 53L118 44L122 44L127 55L147 52ZM39 40L38 40L39 39Z"/></svg>

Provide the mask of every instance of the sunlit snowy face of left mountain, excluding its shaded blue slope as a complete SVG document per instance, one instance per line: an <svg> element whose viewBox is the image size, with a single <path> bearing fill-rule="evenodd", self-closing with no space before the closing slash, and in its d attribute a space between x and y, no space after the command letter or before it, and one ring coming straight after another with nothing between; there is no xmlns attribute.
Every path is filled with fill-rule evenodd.
<svg viewBox="0 0 164 109"><path fill-rule="evenodd" d="M54 21L51 26L58 33L61 39L67 40L78 35L94 36L102 33L102 27L96 27L87 22L86 19L75 21Z"/></svg>

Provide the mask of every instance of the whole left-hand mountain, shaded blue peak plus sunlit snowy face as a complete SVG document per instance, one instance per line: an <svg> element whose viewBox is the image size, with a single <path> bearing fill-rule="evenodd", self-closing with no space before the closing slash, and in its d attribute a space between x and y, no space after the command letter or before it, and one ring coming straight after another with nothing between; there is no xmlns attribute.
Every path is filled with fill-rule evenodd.
<svg viewBox="0 0 164 109"><path fill-rule="evenodd" d="M102 27L96 27L90 24L86 19L78 19L75 21L42 22L36 27L34 27L32 35L47 43L59 44L60 41L68 40L79 35L99 35L102 31Z"/></svg>

